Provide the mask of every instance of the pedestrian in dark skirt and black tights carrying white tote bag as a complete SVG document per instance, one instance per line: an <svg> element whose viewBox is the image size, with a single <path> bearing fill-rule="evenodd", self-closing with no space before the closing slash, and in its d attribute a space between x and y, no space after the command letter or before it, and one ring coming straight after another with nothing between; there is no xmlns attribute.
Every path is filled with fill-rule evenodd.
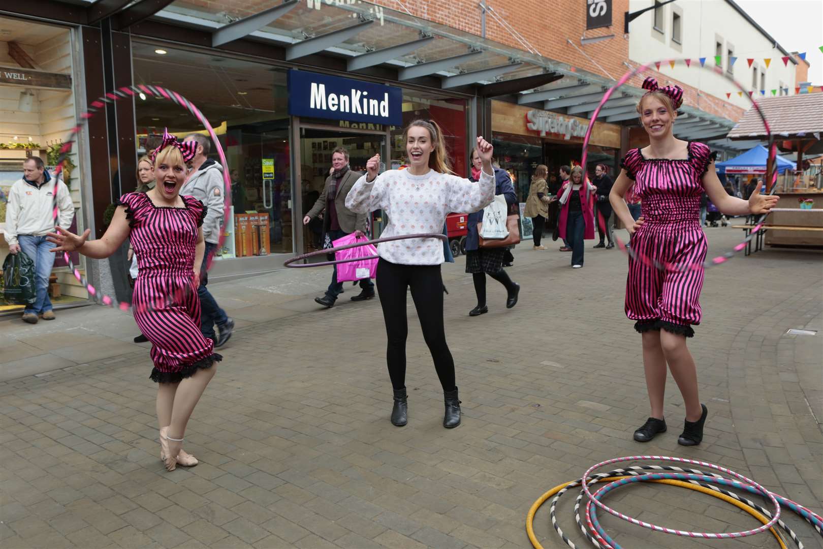
<svg viewBox="0 0 823 549"><path fill-rule="evenodd" d="M543 166L544 168L546 166ZM472 149L472 176L470 181L480 181L483 161L477 147ZM492 168L495 171L495 195L502 194L506 204L513 206L517 203L512 179L505 170ZM545 183L545 181L544 181ZM541 218L542 219L542 218ZM477 233L477 224L483 221L483 210L468 214L466 221L466 272L472 273L474 291L477 295L477 306L468 312L469 316L479 316L489 312L486 305L486 275L500 282L506 289L506 309L517 305L520 285L512 281L509 273L503 268L505 248L481 248L480 235Z"/></svg>

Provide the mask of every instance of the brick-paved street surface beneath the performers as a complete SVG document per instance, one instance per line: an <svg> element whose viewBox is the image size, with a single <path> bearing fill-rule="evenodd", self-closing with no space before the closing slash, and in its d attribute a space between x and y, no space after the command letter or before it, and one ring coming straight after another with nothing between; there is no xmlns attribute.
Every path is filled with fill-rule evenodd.
<svg viewBox="0 0 823 549"><path fill-rule="evenodd" d="M735 244L737 232L707 230L712 251ZM23 370L0 383L0 546L529 547L523 524L539 495L590 464L634 454L722 464L823 512L819 253L767 249L707 272L704 322L689 345L709 420L704 443L683 448L671 380L669 431L649 444L631 440L648 401L639 337L623 313L625 257L587 249L585 268L573 271L569 254L546 244L545 252L525 244L515 252L509 272L523 288L518 305L505 309L504 291L490 280L490 313L475 319L467 316L474 292L462 258L444 267L447 337L463 400L456 430L441 426L442 393L411 300L410 419L403 428L389 423L379 303L349 302L350 286L328 310L316 307L314 293L270 291L282 299L246 304L256 309L221 351L224 361L189 422L185 447L200 460L190 469L165 472L160 463L145 347L99 351L89 334L84 361L71 338L54 342L57 351L72 348L63 352L71 365L47 361L38 375ZM316 284L302 294L328 277L311 271L319 273L300 276ZM242 299L240 286L212 291L230 302ZM86 307L60 316L89 323L110 313ZM123 314L115 321L126 323L125 333L133 329ZM12 334L9 326L0 333ZM818 335L788 336L788 328ZM26 337L38 341L36 332ZM8 336L4 347L9 340L16 344ZM15 360L36 371L44 356ZM560 501L558 518L586 547L575 533L575 496ZM672 486L633 485L608 502L672 528L757 524L723 501ZM543 547L565 547L547 506L537 514L537 537ZM602 515L624 547L775 543L768 533L673 537ZM807 523L783 516L806 547L823 547Z"/></svg>

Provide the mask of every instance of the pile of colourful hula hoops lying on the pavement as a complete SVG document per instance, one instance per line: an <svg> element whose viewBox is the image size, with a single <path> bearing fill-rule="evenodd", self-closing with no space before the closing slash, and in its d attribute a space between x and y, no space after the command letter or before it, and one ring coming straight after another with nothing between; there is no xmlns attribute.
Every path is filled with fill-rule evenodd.
<svg viewBox="0 0 823 549"><path fill-rule="evenodd" d="M687 463L701 468L709 468L712 471L704 472L700 469L682 468L677 465L644 464L614 469L609 472L595 473L597 469L604 468L607 465L625 462ZM725 477L723 475L725 475ZM742 532L687 532L684 530L666 528L663 526L658 526L657 524L651 524L642 520L634 519L628 515L616 511L615 509L611 509L602 502L604 497L609 492L621 486L633 484L635 482L654 482L700 491L706 495L712 495L735 505L739 509L746 511L746 513L751 514L762 524L758 528L752 528L751 530ZM603 486L594 486L596 484L603 484ZM725 488L721 486L725 486ZM603 549L621 549L621 546L606 533L606 530L598 522L598 509L609 514L613 514L620 519L643 528L649 528L657 532L669 533L677 536L723 539L753 536L754 534L768 530L772 535L774 535L779 547L782 549L786 549L787 547L784 536L791 539L796 547L802 549L803 543L797 538L797 534L795 534L791 528L788 528L786 523L780 519L781 509L789 509L810 523L811 526L815 528L816 533L823 537L823 529L821 529L823 528L823 519L821 519L820 515L813 513L811 510L795 503L792 500L788 500L781 495L777 495L774 494L774 492L766 490L757 482L754 482L750 478L746 478L737 472L733 472L719 465L714 465L713 463L706 463L694 459L653 455L626 456L624 458L614 458L597 463L596 465L588 468L588 470L584 472L583 477L580 477L574 481L564 482L559 486L555 486L550 491L547 491L545 494L541 495L540 498L534 502L534 505L532 505L532 508L529 509L528 516L526 518L526 531L528 533L528 538L532 542L532 546L535 547L535 549L542 549L542 545L537 541L537 537L534 533L534 515L537 513L537 509L540 509L546 500L549 500L552 496L554 497L549 505L551 526L555 529L557 535L560 536L560 539L562 539L566 545L573 548L578 547L560 528L560 524L557 523L556 517L558 500L560 500L560 497L567 491L570 491L572 488L576 487L579 487L580 489L577 500L574 502L574 521L577 523L577 528L579 528L580 532L583 533L584 537L588 540L588 542L591 542L594 547L602 547ZM595 488L597 489L595 490ZM751 494L758 495L764 498L768 508L757 505L755 502L748 500L742 495L736 493L735 491L728 490L727 488L734 488L737 491L750 492ZM783 530L783 534L779 533L779 531L774 528L775 525L779 526L779 528Z"/></svg>

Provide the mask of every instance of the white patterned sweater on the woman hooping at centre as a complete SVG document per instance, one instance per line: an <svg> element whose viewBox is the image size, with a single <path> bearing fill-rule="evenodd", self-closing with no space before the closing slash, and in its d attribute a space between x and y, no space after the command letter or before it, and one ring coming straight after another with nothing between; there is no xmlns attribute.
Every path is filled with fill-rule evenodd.
<svg viewBox="0 0 823 549"><path fill-rule="evenodd" d="M346 207L356 213L383 210L388 226L381 237L442 233L449 213L477 212L495 198L495 176L484 171L477 183L435 170L425 175L388 170L371 183L365 178L357 179L349 191ZM434 238L384 242L378 244L377 253L401 265L439 265L444 261L443 242Z"/></svg>

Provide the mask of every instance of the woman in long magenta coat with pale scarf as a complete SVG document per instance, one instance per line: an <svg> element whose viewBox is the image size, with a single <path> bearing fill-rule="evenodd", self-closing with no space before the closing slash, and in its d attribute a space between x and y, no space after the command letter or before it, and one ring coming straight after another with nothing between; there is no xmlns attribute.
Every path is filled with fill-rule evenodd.
<svg viewBox="0 0 823 549"><path fill-rule="evenodd" d="M571 177L560 191L560 238L571 246L571 266L583 267L584 240L594 239L593 194L597 190L588 180L584 183L583 168L571 169Z"/></svg>

